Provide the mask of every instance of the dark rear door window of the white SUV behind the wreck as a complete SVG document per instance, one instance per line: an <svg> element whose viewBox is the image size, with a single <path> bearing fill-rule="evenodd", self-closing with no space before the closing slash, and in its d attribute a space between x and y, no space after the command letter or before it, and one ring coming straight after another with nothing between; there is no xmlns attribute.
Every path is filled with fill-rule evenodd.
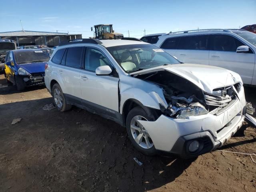
<svg viewBox="0 0 256 192"><path fill-rule="evenodd" d="M178 49L206 50L207 35L183 36L180 37Z"/></svg>

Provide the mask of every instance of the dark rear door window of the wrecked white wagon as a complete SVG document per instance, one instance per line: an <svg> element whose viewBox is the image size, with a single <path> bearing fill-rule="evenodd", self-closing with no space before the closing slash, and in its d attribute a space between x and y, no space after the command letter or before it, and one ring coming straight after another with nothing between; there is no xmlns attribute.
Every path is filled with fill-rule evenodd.
<svg viewBox="0 0 256 192"><path fill-rule="evenodd" d="M66 66L80 68L83 47L68 48L66 56Z"/></svg>

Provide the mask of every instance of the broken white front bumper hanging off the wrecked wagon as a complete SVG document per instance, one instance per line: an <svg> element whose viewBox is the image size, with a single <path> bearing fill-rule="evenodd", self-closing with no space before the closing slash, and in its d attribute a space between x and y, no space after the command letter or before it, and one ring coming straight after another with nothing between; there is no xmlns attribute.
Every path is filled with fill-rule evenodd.
<svg viewBox="0 0 256 192"><path fill-rule="evenodd" d="M177 154L182 158L192 158L221 147L233 136L244 122L246 101L244 89L238 98L224 109L186 119L174 119L161 115L156 121L140 121L150 135L156 150L166 154ZM188 151L191 141L197 140L200 148Z"/></svg>

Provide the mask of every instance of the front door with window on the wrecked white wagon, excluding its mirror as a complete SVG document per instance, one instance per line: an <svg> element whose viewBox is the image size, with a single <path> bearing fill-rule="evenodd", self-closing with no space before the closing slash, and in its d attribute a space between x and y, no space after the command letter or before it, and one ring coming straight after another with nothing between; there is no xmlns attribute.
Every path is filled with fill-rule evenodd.
<svg viewBox="0 0 256 192"><path fill-rule="evenodd" d="M95 70L108 65L112 74L98 76ZM106 56L96 48L86 48L85 70L80 72L82 103L93 110L118 116L118 74Z"/></svg>

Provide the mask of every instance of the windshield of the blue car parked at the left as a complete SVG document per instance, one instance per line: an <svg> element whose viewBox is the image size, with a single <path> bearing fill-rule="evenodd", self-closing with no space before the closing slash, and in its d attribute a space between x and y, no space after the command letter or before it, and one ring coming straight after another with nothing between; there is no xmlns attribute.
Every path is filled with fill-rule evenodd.
<svg viewBox="0 0 256 192"><path fill-rule="evenodd" d="M15 52L16 64L48 61L50 57L43 51Z"/></svg>

